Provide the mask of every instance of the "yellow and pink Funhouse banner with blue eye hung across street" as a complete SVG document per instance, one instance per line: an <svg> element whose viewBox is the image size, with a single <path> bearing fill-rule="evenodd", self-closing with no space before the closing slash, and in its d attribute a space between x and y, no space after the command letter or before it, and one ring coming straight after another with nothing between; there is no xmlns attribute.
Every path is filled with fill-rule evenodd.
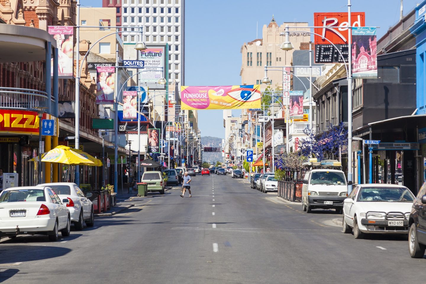
<svg viewBox="0 0 426 284"><path fill-rule="evenodd" d="M182 109L260 108L260 85L181 86Z"/></svg>

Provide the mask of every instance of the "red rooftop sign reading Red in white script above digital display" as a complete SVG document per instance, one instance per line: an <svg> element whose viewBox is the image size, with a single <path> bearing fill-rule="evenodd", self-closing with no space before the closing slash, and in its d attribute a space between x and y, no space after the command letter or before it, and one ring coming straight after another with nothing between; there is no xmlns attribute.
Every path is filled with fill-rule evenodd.
<svg viewBox="0 0 426 284"><path fill-rule="evenodd" d="M366 13L364 12L351 12L351 26L363 27L365 22ZM322 26L323 28L316 28L314 32L314 44L330 44L330 40L334 44L348 43L348 28L334 28L337 26L349 26L348 13L314 13L314 26ZM320 34L321 36L318 36ZM323 39L327 38L328 40Z"/></svg>

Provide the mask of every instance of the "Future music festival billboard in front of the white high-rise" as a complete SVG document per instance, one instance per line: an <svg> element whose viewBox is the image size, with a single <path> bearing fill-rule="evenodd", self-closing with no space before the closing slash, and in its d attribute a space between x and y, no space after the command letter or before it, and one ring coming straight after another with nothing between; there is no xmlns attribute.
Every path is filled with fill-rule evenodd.
<svg viewBox="0 0 426 284"><path fill-rule="evenodd" d="M164 47L149 47L141 51L141 60L144 60L144 72L141 80L144 83L157 83L163 76L160 67L164 67Z"/></svg>

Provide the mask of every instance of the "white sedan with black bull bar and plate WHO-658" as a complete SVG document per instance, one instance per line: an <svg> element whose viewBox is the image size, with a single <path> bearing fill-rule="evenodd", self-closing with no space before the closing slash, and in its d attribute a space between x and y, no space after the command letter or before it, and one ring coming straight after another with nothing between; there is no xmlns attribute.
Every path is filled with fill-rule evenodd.
<svg viewBox="0 0 426 284"><path fill-rule="evenodd" d="M363 238L365 233L408 233L413 201L414 195L405 186L354 186L343 203L343 232L353 230L355 238Z"/></svg>

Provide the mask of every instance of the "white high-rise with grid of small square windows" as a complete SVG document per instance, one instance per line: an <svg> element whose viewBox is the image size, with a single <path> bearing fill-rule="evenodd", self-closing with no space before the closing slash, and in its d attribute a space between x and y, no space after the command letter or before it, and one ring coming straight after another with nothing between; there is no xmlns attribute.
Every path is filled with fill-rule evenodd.
<svg viewBox="0 0 426 284"><path fill-rule="evenodd" d="M167 44L169 82L184 85L185 0L123 0L121 11L122 26L140 26L143 33L139 39L139 34L123 32L124 44L139 40L148 45Z"/></svg>

